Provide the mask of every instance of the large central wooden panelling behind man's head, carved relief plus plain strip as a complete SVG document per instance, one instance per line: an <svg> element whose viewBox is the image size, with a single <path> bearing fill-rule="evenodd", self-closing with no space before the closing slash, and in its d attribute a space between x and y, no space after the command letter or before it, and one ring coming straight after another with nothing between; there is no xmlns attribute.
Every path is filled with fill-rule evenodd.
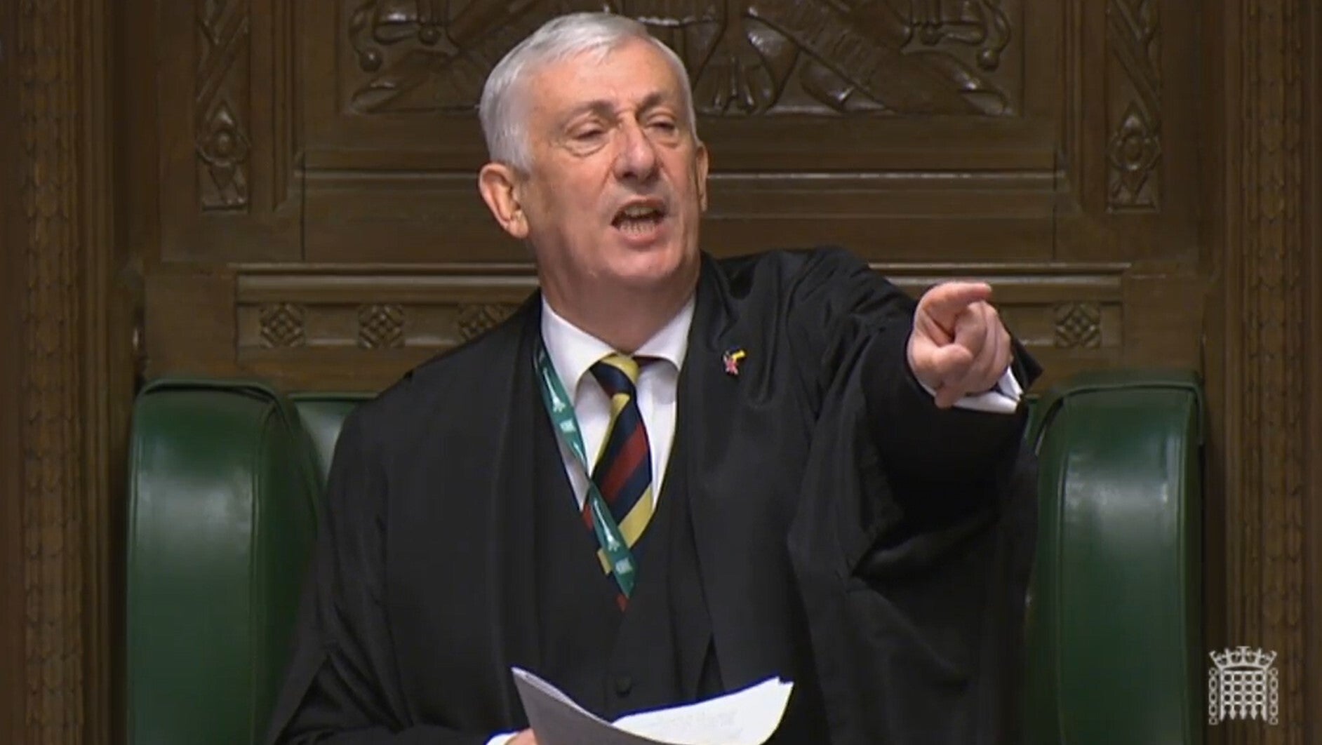
<svg viewBox="0 0 1322 745"><path fill-rule="evenodd" d="M473 107L506 50L579 5L340 0L309 13L305 258L361 260L371 243L371 260L521 260L475 197L485 147ZM687 65L720 178L709 250L776 235L876 260L1051 255L1055 30L1042 16L1059 22L1054 3L611 7Z"/></svg>

